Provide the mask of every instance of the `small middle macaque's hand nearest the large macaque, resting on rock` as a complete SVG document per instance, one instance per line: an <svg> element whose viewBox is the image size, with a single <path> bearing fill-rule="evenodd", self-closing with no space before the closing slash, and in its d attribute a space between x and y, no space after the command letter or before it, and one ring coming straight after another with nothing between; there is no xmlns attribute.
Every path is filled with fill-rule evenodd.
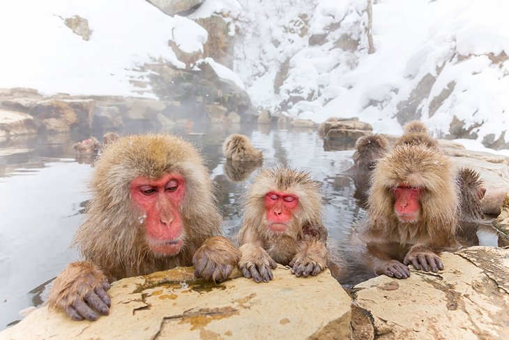
<svg viewBox="0 0 509 340"><path fill-rule="evenodd" d="M268 256L268 253L253 243L243 244L239 250L242 253L238 268L248 279L252 277L255 282L268 282L274 278L272 269L276 269L278 264Z"/></svg>

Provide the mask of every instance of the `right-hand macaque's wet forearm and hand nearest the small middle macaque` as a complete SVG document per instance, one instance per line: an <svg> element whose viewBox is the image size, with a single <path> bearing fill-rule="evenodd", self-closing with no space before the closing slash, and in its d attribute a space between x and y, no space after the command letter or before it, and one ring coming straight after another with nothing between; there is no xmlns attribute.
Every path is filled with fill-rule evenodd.
<svg viewBox="0 0 509 340"><path fill-rule="evenodd" d="M370 255L371 265L374 274L395 277L396 279L407 279L410 277L410 269L407 265L394 260L391 249L398 249L399 244L380 244L378 242L367 243L367 253Z"/></svg>

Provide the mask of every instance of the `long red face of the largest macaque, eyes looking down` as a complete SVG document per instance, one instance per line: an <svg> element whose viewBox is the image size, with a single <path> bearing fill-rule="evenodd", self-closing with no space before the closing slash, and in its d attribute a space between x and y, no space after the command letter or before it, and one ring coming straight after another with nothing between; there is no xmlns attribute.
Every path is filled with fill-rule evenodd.
<svg viewBox="0 0 509 340"><path fill-rule="evenodd" d="M178 212L185 193L184 177L176 172L155 180L137 177L131 183L130 192L136 205L145 212L146 239L151 249L169 256L178 253L184 236Z"/></svg>

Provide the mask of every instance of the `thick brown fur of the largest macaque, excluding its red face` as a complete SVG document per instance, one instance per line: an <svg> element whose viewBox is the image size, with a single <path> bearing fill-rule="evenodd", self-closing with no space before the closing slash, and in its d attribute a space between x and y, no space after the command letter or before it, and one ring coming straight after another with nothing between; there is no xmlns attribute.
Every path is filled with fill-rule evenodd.
<svg viewBox="0 0 509 340"><path fill-rule="evenodd" d="M143 213L130 198L133 179L140 176L158 179L167 172L178 172L185 179L185 194L179 209L184 245L174 256L153 253L146 242ZM86 262L73 263L59 275L50 306L73 303L72 298L63 296L79 299L82 294L77 292L93 286L82 279L85 276L95 278L92 281L98 284L105 276L110 280L122 279L192 265L193 255L197 264L212 264L201 272L202 277L223 278L227 267L236 265L240 253L224 237L206 242L209 237L221 234L221 223L208 171L189 142L166 134L120 138L105 148L96 164L91 200L73 239L72 245L77 246ZM202 245L204 249L198 253ZM215 272L217 267L221 275Z"/></svg>

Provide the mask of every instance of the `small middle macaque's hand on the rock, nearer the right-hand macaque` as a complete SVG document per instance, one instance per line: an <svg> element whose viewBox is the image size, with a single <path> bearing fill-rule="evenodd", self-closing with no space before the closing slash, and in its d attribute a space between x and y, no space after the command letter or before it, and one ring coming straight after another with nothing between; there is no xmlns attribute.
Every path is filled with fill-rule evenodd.
<svg viewBox="0 0 509 340"><path fill-rule="evenodd" d="M291 274L295 276L316 276L327 267L327 249L318 240L304 241L299 251L290 261Z"/></svg>

